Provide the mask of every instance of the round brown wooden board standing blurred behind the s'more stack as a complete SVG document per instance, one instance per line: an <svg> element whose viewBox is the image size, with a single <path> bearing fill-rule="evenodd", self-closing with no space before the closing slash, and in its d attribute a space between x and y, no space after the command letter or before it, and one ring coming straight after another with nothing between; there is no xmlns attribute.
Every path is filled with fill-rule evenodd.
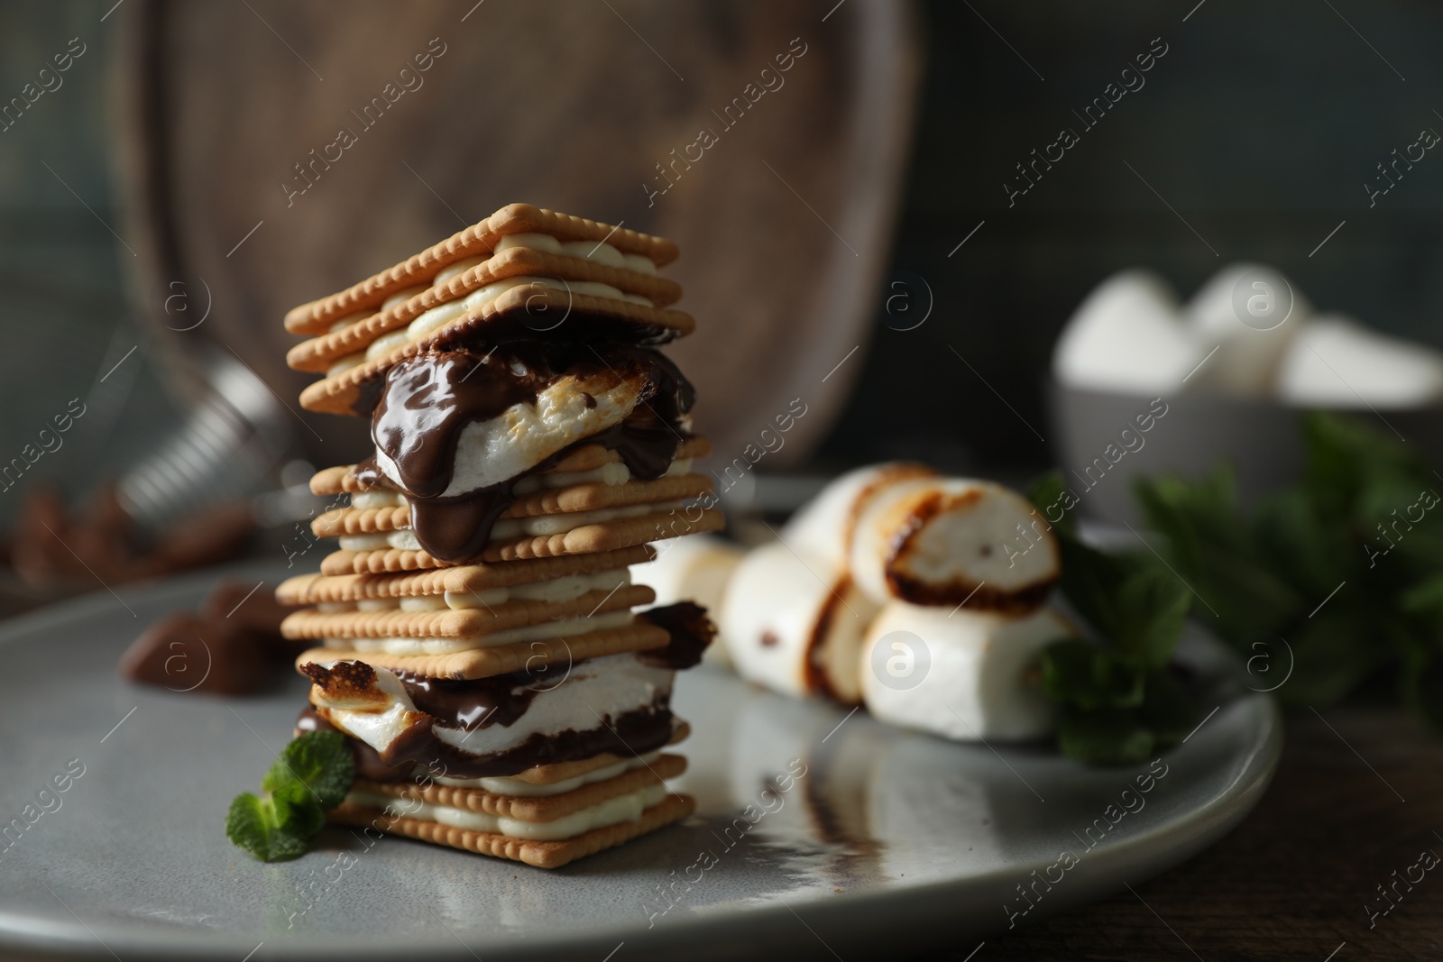
<svg viewBox="0 0 1443 962"><path fill-rule="evenodd" d="M880 304L919 74L912 7L469 6L126 4L121 183L157 337L225 343L294 404L310 376L283 365L286 309L527 200L674 238L667 274L698 333L670 353L697 384L698 428L730 460L799 397L807 415L768 463L801 460ZM430 69L403 78L427 50ZM716 141L688 150L703 128ZM339 130L355 143L335 159ZM674 180L659 196L658 164ZM195 332L166 330L176 280L214 299ZM306 421L317 463L356 456L356 425Z"/></svg>

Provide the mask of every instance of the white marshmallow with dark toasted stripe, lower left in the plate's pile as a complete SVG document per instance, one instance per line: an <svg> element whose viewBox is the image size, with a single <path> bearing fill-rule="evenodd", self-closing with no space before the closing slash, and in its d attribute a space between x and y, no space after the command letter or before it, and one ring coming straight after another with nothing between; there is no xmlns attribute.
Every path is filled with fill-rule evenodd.
<svg viewBox="0 0 1443 962"><path fill-rule="evenodd" d="M732 574L722 637L747 681L857 704L861 636L876 612L846 574L776 542L750 551Z"/></svg>

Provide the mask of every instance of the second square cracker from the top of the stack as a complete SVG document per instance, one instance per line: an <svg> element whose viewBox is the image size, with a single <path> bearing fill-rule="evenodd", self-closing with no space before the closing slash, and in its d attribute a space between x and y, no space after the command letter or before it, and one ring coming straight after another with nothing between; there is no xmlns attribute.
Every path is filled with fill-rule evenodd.
<svg viewBox="0 0 1443 962"><path fill-rule="evenodd" d="M427 287L400 304L356 320L341 330L300 342L286 352L286 363L296 371L323 372L336 361L365 350L381 335L405 327L427 310L460 300L473 290L511 277L554 277L563 281L609 284L626 294L641 294L657 307L667 307L681 299L681 284L665 277L609 267L569 254L514 247L494 254L444 284Z"/></svg>

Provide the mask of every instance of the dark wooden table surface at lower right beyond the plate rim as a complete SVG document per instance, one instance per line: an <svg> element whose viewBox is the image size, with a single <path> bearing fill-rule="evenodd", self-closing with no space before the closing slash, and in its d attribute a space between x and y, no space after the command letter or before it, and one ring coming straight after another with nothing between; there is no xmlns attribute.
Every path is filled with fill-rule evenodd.
<svg viewBox="0 0 1443 962"><path fill-rule="evenodd" d="M1443 740L1384 707L1303 710L1287 723L1267 795L1211 850L1137 886L1136 896L1124 891L981 949L970 940L934 958L1443 958L1443 865L1411 891L1398 881L1426 850L1443 854ZM1367 906L1388 904L1378 886L1397 904L1369 927Z"/></svg>

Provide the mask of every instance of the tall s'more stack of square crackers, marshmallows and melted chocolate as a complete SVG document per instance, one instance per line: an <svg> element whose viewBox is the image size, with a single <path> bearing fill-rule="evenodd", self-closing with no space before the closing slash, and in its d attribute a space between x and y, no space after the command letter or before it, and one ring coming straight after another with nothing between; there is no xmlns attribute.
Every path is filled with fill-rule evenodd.
<svg viewBox="0 0 1443 962"><path fill-rule="evenodd" d="M553 868L685 818L665 780L677 669L714 629L629 565L716 531L671 241L530 205L303 304L287 355L313 411L368 417L313 521L338 538L277 596L313 646L297 730L348 737L330 819Z"/></svg>

